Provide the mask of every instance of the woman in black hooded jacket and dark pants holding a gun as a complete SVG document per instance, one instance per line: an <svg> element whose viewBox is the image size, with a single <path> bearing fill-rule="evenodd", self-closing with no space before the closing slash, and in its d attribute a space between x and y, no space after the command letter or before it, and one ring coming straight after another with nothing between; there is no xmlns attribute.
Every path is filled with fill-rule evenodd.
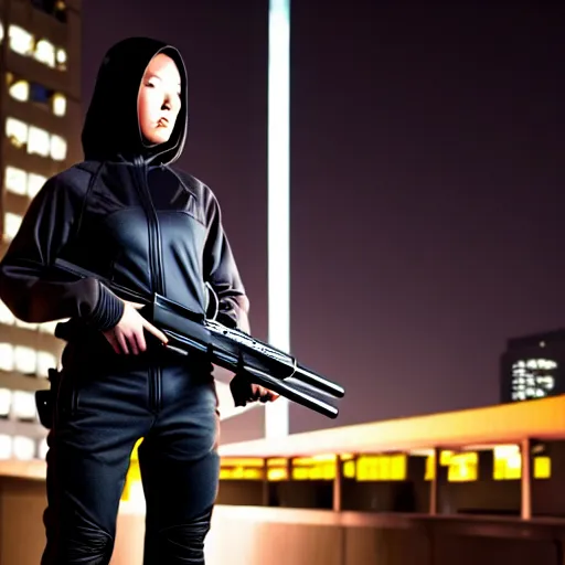
<svg viewBox="0 0 565 565"><path fill-rule="evenodd" d="M50 179L0 264L0 298L28 322L70 318L72 331L49 435L47 543L42 564L110 561L131 450L147 501L146 565L204 563L218 483L212 366L180 356L96 278L203 313L209 282L218 320L248 329L248 300L211 190L171 169L188 124L179 52L150 39L106 54L83 129L85 161ZM249 399L274 399L249 385Z"/></svg>

